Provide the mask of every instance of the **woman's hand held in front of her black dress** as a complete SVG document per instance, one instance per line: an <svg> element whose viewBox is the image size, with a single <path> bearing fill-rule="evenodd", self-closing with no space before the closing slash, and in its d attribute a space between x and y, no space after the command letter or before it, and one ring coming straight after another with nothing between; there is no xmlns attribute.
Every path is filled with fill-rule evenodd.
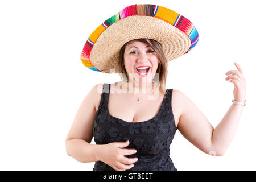
<svg viewBox="0 0 256 182"><path fill-rule="evenodd" d="M135 149L126 149L129 145L129 140L126 142L113 142L101 145L97 151L97 159L108 164L116 171L124 171L134 167L138 158L127 158L125 155L135 154ZM126 165L129 164L129 165Z"/></svg>

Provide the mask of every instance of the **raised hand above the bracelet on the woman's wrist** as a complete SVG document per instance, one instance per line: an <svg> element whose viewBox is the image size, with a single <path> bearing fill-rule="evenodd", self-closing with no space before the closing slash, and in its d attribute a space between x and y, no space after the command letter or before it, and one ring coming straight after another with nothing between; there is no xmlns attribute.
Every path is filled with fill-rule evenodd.
<svg viewBox="0 0 256 182"><path fill-rule="evenodd" d="M226 80L234 84L234 100L238 102L245 101L245 77L243 76L243 69L237 63L235 63L238 70L230 70L226 72ZM232 74L232 75L230 75Z"/></svg>

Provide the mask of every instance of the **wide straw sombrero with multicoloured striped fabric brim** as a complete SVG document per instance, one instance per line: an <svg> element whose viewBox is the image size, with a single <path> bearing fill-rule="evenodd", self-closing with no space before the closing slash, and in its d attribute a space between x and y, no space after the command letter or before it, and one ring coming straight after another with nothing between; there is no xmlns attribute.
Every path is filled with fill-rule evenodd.
<svg viewBox="0 0 256 182"><path fill-rule="evenodd" d="M122 46L133 39L158 41L168 61L188 53L199 35L184 16L158 5L131 5L102 23L92 32L81 53L85 67L98 72L118 71Z"/></svg>

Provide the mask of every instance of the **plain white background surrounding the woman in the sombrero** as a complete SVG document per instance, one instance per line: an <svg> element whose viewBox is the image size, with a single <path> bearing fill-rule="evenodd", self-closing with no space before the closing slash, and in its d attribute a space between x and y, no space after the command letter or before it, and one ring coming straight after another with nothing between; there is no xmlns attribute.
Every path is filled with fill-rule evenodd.
<svg viewBox="0 0 256 182"><path fill-rule="evenodd" d="M1 1L0 169L92 170L67 155L65 137L81 101L118 75L84 67L89 35L124 7L157 4L185 16L197 46L168 64L167 89L186 94L216 127L232 105L225 73L245 72L247 105L225 155L205 154L177 131L171 158L178 170L255 170L254 1ZM94 142L93 142L94 143Z"/></svg>

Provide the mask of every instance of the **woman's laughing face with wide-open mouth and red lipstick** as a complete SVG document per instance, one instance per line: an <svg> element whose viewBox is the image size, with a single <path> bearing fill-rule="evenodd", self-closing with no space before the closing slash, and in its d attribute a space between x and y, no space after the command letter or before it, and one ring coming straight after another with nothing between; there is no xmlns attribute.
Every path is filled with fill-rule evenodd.
<svg viewBox="0 0 256 182"><path fill-rule="evenodd" d="M128 44L124 53L124 64L130 79L139 84L152 82L158 69L159 57L147 44L135 41Z"/></svg>

